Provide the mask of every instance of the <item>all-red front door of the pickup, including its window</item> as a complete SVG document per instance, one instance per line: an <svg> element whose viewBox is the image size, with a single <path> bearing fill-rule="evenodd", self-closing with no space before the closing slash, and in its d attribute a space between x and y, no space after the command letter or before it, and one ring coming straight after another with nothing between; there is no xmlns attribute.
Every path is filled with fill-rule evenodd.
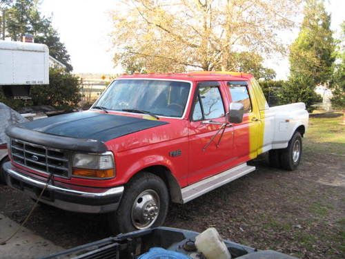
<svg viewBox="0 0 345 259"><path fill-rule="evenodd" d="M233 146L231 127L221 134L221 125L208 123L226 122L226 89L219 81L203 81L196 91L189 127L188 184L228 169Z"/></svg>

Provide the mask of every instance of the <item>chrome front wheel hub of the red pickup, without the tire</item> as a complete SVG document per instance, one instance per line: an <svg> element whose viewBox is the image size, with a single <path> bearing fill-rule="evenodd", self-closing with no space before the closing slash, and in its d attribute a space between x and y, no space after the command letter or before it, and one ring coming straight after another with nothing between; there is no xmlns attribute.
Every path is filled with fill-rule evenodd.
<svg viewBox="0 0 345 259"><path fill-rule="evenodd" d="M140 193L130 213L133 226L137 229L151 227L158 218L159 207L159 196L156 191L150 189Z"/></svg>

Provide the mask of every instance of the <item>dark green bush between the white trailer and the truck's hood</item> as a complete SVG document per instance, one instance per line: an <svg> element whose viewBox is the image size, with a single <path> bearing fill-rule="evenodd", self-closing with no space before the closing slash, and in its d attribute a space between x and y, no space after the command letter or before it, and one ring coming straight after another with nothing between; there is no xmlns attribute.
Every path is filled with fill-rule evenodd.
<svg viewBox="0 0 345 259"><path fill-rule="evenodd" d="M50 68L49 85L32 86L33 105L50 105L58 109L76 108L81 100L81 79L59 68Z"/></svg>

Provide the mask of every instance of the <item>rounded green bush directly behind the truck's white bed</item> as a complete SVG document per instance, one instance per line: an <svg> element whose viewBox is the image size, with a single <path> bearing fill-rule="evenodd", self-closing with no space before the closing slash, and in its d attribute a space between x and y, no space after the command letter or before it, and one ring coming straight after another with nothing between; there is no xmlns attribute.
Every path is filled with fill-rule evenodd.
<svg viewBox="0 0 345 259"><path fill-rule="evenodd" d="M315 93L313 81L306 77L293 77L284 82L282 88L277 93L279 104L290 104L294 102L304 102L306 109L312 112L313 104L321 102L321 97Z"/></svg>

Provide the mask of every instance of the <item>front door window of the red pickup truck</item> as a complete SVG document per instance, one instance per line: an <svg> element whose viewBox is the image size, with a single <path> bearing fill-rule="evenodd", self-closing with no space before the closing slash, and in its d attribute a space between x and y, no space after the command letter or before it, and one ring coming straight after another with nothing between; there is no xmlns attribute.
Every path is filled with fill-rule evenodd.
<svg viewBox="0 0 345 259"><path fill-rule="evenodd" d="M193 121L215 119L225 115L218 86L199 86L193 111Z"/></svg>

